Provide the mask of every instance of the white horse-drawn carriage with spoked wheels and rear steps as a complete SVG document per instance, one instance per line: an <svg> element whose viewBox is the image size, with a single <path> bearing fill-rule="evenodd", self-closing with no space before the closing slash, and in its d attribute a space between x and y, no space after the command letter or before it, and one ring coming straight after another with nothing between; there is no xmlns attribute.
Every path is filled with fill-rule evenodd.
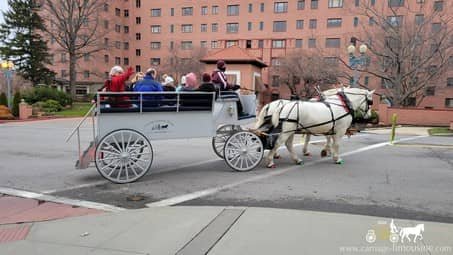
<svg viewBox="0 0 453 255"><path fill-rule="evenodd" d="M212 137L214 152L236 171L250 171L263 158L260 138L241 128L255 122L255 95L204 92L98 93L92 108L93 142L80 153L77 168L95 163L99 173L115 183L143 177L154 159L155 140Z"/></svg>

